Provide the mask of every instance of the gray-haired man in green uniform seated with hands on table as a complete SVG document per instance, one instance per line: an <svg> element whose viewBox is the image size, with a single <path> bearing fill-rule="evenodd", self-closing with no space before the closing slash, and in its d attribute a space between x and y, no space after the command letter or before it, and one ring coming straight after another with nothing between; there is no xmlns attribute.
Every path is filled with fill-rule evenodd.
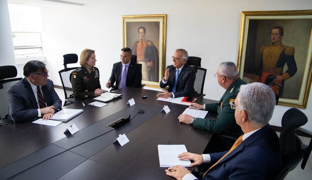
<svg viewBox="0 0 312 180"><path fill-rule="evenodd" d="M236 124L235 109L231 108L230 102L235 100L239 92L239 87L242 84L246 84L246 82L241 80L238 69L233 62L223 62L219 64L215 77L219 85L226 89L219 102L204 105L191 103L189 108L217 112L217 119L202 119L187 114L181 114L178 117L179 122L192 124L195 128L214 133L205 153L220 152L222 150L229 150L232 147L234 141L224 140L224 138L218 136L219 134L232 134L233 136L237 135L237 137L243 134L241 127Z"/></svg>

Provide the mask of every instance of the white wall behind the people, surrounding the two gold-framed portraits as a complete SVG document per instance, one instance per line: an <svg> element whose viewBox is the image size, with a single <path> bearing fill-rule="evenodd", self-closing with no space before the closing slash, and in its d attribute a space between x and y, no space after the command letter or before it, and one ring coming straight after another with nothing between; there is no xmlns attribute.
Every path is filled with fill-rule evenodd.
<svg viewBox="0 0 312 180"><path fill-rule="evenodd" d="M122 48L122 15L167 14L166 66L177 48L202 58L207 69L205 98L219 100L222 89L216 78L218 64L237 63L242 11L281 11L312 9L311 0L158 0L124 2L91 1L84 6L42 8L43 51L50 79L61 85L58 71L63 69L63 54L95 50L102 88L110 77L112 64L119 61ZM70 67L79 66L79 64ZM312 131L312 91L307 109ZM155 97L156 98L156 97ZM290 107L276 106L271 125L281 126L281 117Z"/></svg>

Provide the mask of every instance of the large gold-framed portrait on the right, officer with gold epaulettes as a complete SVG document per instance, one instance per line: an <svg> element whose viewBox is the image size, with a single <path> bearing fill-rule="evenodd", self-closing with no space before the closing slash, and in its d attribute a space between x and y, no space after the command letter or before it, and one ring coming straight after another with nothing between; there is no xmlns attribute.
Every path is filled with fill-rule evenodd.
<svg viewBox="0 0 312 180"><path fill-rule="evenodd" d="M241 14L237 67L247 83L280 93L278 105L306 108L311 87L312 10L248 11ZM271 75L272 76L272 75Z"/></svg>

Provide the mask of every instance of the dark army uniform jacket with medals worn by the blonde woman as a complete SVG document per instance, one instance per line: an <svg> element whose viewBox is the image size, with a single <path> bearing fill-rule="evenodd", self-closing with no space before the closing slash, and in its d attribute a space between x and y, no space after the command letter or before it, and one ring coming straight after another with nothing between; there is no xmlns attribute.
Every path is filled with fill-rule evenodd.
<svg viewBox="0 0 312 180"><path fill-rule="evenodd" d="M99 69L92 67L91 73L88 72L85 66L76 69L71 75L71 86L74 98L83 100L94 97L95 89L101 88Z"/></svg>

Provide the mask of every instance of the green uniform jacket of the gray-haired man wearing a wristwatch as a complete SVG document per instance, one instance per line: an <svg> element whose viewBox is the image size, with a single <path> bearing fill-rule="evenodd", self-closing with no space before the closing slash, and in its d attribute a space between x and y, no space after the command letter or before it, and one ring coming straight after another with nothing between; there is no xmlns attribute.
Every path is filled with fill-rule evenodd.
<svg viewBox="0 0 312 180"><path fill-rule="evenodd" d="M227 88L218 103L204 105L204 110L218 113L216 120L196 118L193 127L216 134L225 132L243 134L241 127L236 124L235 109L230 107L230 102L235 100L242 84L246 84L246 82L238 78Z"/></svg>

